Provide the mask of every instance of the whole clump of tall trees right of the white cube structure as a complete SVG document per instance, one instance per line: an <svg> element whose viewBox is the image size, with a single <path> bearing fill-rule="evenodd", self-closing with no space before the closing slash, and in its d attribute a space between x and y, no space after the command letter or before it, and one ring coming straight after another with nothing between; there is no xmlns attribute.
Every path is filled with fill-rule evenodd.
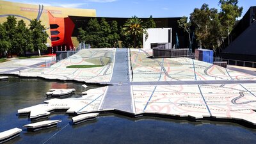
<svg viewBox="0 0 256 144"><path fill-rule="evenodd" d="M196 40L205 48L214 51L220 49L223 38L232 31L236 18L241 16L242 7L237 6L237 0L220 0L221 12L203 4L190 14L191 24L195 26Z"/></svg>

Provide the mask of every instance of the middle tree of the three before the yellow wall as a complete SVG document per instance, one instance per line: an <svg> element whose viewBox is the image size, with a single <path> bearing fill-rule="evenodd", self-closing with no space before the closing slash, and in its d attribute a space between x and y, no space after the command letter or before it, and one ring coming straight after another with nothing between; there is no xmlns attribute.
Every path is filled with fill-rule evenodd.
<svg viewBox="0 0 256 144"><path fill-rule="evenodd" d="M15 46L16 51L19 53L24 52L26 56L26 51L33 51L31 31L29 31L29 28L26 28L24 20L18 22L15 31L17 33L15 36L15 41L17 42Z"/></svg>

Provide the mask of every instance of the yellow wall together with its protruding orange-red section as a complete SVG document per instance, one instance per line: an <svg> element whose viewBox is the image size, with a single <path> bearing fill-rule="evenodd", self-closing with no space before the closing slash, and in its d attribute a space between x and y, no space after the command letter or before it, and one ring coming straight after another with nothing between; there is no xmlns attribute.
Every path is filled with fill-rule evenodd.
<svg viewBox="0 0 256 144"><path fill-rule="evenodd" d="M74 47L71 36L75 25L68 16L96 17L96 10L0 1L0 23L6 21L9 15L15 16L17 20L23 19L27 25L32 19L41 20L49 35L47 46L69 49Z"/></svg>

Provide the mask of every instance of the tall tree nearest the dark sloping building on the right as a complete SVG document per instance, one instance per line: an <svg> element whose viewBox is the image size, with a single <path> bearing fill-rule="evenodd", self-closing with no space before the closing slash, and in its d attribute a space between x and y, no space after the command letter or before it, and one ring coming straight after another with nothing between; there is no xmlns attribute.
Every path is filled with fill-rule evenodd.
<svg viewBox="0 0 256 144"><path fill-rule="evenodd" d="M237 6L238 0L220 0L221 4L220 11L220 22L223 31L223 37L228 36L229 44L229 34L232 31L237 17L241 17L243 12L243 7Z"/></svg>

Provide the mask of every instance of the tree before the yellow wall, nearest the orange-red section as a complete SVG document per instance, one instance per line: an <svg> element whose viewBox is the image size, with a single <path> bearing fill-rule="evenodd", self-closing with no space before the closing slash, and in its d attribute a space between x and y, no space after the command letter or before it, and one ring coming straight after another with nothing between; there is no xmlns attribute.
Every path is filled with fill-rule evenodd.
<svg viewBox="0 0 256 144"><path fill-rule="evenodd" d="M40 55L41 50L46 50L47 46L45 45L47 42L47 33L45 31L45 27L42 26L41 20L33 19L31 20L30 24L30 31L33 37L33 51L38 51Z"/></svg>

